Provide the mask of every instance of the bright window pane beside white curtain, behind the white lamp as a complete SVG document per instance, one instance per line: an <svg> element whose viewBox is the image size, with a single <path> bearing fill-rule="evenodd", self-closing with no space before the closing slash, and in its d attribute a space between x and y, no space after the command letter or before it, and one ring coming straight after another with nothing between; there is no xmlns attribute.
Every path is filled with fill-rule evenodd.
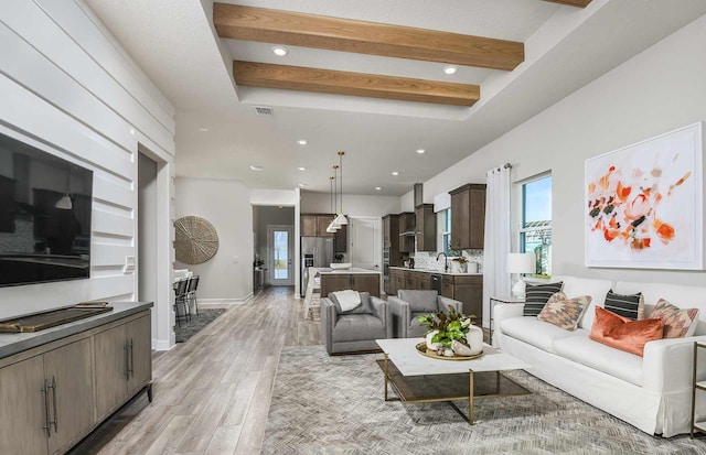
<svg viewBox="0 0 706 455"><path fill-rule="evenodd" d="M537 258L537 275L552 275L552 175L522 185L520 251Z"/></svg>

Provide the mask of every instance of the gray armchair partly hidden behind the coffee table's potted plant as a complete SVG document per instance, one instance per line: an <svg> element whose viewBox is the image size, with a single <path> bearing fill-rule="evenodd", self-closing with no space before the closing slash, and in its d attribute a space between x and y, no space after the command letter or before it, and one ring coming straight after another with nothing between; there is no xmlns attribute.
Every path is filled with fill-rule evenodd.
<svg viewBox="0 0 706 455"><path fill-rule="evenodd" d="M440 311L448 314L451 306L457 312L463 310L461 302L442 297L437 291L399 290L396 297L387 297L387 304L393 316L393 335L395 338L424 336L427 328L419 325L417 316Z"/></svg>

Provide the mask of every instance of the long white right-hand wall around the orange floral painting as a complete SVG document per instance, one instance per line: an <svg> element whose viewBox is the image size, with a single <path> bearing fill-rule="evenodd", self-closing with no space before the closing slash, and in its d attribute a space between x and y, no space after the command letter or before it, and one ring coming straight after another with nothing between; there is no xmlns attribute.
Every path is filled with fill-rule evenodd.
<svg viewBox="0 0 706 455"><path fill-rule="evenodd" d="M584 266L584 162L705 120L705 42L702 17L436 175L425 183L425 194L484 183L485 172L505 162L513 164L515 182L550 170L554 273L703 284L704 272Z"/></svg>

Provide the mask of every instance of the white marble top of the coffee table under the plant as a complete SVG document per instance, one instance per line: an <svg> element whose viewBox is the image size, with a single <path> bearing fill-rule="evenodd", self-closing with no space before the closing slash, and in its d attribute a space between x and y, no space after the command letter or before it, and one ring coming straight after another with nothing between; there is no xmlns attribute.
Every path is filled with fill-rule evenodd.
<svg viewBox="0 0 706 455"><path fill-rule="evenodd" d="M442 360L426 357L415 347L424 338L376 339L397 369L404 376L450 375L458 372L522 370L531 366L524 361L501 353L499 349L483 344L483 355L471 360Z"/></svg>

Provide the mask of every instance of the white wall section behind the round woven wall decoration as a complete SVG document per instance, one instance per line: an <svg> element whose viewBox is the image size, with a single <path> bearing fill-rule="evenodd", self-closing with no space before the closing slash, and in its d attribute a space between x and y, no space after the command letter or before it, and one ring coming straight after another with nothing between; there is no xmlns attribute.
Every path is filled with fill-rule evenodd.
<svg viewBox="0 0 706 455"><path fill-rule="evenodd" d="M201 275L199 302L245 301L253 294L253 207L238 181L176 177L176 218L207 219L218 235L218 251L201 264L176 261L176 269Z"/></svg>

